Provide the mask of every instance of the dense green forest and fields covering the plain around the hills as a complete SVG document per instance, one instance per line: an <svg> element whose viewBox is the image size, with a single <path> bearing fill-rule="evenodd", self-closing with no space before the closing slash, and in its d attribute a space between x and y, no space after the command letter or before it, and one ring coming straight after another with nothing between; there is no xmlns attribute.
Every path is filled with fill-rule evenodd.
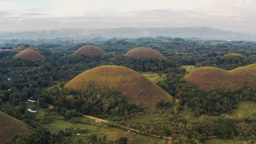
<svg viewBox="0 0 256 144"><path fill-rule="evenodd" d="M26 43L38 48L45 59L31 61L14 58L18 53L14 49ZM97 46L106 54L73 55L85 45ZM152 48L167 59L124 55L138 47ZM164 36L98 38L88 42L61 42L56 38L50 43L1 40L0 48L9 49L0 51L0 111L26 123L30 129L30 133L17 134L4 143L256 143L256 88L244 84L238 89L203 90L185 80L190 70L181 68L188 65L234 70L254 64L256 42L203 41ZM120 90L98 86L84 90L64 87L78 74L105 65L124 66L140 74L156 74L162 79L154 82L170 94L173 101L159 100L155 103L156 108L150 110L138 103L128 103ZM28 108L38 112L28 112ZM84 119L83 115L109 123ZM63 127L68 122L76 127ZM63 123L63 126L54 129L56 123ZM81 128L76 124L81 124ZM124 129L120 126L134 129L131 135L138 133L137 139L126 133L114 137L114 132ZM103 129L106 134L102 134ZM81 134L79 138L78 133Z"/></svg>

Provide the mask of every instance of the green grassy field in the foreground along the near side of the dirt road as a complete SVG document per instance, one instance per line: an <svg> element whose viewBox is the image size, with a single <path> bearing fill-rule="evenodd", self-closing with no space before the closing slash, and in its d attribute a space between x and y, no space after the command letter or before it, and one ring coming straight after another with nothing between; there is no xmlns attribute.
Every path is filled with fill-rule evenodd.
<svg viewBox="0 0 256 144"><path fill-rule="evenodd" d="M31 108L33 104L28 107ZM36 117L42 119L46 113L46 109L40 108L36 112ZM89 134L96 134L99 137L106 136L107 140L117 140L124 136L128 138L128 144L165 144L166 139L159 139L143 134L133 135L133 131L122 130L116 127L110 127L105 122L96 122L96 120L87 117L76 117L66 120L60 114L51 112L53 121L44 124L51 133L58 134L60 130L69 129L72 131L72 138L81 138L82 140ZM83 131L85 130L85 131ZM80 134L80 135L77 135ZM142 143L141 143L142 142Z"/></svg>

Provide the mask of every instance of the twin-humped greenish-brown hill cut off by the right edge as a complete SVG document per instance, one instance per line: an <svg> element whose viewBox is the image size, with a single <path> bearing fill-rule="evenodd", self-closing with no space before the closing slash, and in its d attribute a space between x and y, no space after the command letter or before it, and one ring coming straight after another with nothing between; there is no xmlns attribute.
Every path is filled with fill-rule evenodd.
<svg viewBox="0 0 256 144"><path fill-rule="evenodd" d="M185 76L185 79L204 90L217 88L233 88L237 90L244 84L255 87L256 64L236 68L230 71L220 68L201 67L190 72Z"/></svg>

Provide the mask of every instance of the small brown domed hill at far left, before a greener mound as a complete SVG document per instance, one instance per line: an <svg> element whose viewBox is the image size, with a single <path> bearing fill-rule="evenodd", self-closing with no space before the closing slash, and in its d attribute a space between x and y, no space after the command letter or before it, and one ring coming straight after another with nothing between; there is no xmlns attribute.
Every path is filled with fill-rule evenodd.
<svg viewBox="0 0 256 144"><path fill-rule="evenodd" d="M15 58L26 59L26 60L44 60L45 57L38 51L26 49L22 50L14 56Z"/></svg>

